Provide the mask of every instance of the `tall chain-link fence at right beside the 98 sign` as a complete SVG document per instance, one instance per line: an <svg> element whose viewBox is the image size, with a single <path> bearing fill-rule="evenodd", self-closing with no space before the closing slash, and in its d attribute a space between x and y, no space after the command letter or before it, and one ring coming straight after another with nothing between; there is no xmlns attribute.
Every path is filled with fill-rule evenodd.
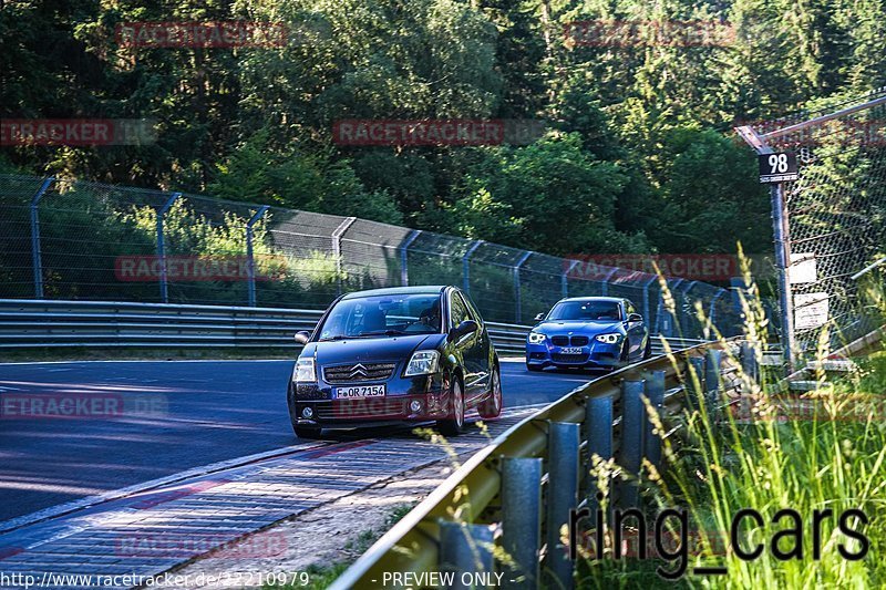
<svg viewBox="0 0 886 590"><path fill-rule="evenodd" d="M825 110L753 125L758 153L793 153L799 178L773 188L776 250L785 267L782 340L812 354L874 328L866 290L882 287L886 256L886 89ZM743 127L746 130L748 127ZM761 170L762 172L762 170ZM779 211L781 207L781 211ZM781 219L779 219L781 217ZM777 224L782 224L779 236Z"/></svg>

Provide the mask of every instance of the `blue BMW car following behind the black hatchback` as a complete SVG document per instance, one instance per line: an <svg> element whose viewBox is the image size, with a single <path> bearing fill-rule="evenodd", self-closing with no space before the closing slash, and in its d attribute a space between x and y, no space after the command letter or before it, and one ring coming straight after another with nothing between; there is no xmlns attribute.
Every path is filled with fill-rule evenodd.
<svg viewBox="0 0 886 590"><path fill-rule="evenodd" d="M526 338L526 369L617 369L651 356L642 315L627 299L563 299Z"/></svg>

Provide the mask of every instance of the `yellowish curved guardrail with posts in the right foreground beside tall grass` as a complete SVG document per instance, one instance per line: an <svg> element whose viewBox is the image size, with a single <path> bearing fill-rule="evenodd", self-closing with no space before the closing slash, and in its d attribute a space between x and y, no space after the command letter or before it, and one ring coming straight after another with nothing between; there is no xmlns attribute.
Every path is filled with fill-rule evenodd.
<svg viewBox="0 0 886 590"><path fill-rule="evenodd" d="M661 437L652 435L641 395L659 410L666 428L673 426L669 416L688 400L704 396L707 407L717 406L718 395L741 389L739 365L730 359L740 358L745 374L759 376L758 355L750 345L741 344L740 356L723 354L722 349L712 342L677 352L673 359L658 356L631 365L516 424L452 474L331 589L382 582L396 588L393 572L454 572L452 587L462 588L463 572L496 571L504 573L501 584L506 589L573 588L573 562L560 530L569 524L570 510L587 507L595 515L599 507L590 457L616 458L633 475L643 458L659 466ZM690 379L693 373L698 379ZM610 498L619 507L638 505L636 484L619 480L614 486ZM493 546L508 559L496 562L501 553Z"/></svg>

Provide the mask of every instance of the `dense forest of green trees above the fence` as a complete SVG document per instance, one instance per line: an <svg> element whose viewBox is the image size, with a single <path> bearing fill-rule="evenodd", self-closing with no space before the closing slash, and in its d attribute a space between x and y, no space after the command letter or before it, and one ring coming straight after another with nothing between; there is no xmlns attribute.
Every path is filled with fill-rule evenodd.
<svg viewBox="0 0 886 590"><path fill-rule="evenodd" d="M730 252L739 240L770 250L766 192L732 126L886 80L883 0L0 7L0 116L143 118L157 133L143 146L6 146L0 172L205 193L555 255ZM115 34L122 23L233 20L280 23L286 42L151 48ZM646 25L576 42L575 22ZM681 37L687 23L728 34ZM333 141L341 120L526 120L546 131L528 145L358 146Z"/></svg>

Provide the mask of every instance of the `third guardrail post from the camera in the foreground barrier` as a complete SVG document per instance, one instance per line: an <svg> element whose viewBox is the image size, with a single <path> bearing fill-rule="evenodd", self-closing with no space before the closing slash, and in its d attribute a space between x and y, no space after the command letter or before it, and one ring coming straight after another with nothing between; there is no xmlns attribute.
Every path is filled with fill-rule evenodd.
<svg viewBox="0 0 886 590"><path fill-rule="evenodd" d="M578 447L580 426L571 422L552 422L548 431L547 460L547 556L545 570L553 578L546 586L573 588L573 562L569 548L560 539L560 529L569 525L570 511L578 505Z"/></svg>

